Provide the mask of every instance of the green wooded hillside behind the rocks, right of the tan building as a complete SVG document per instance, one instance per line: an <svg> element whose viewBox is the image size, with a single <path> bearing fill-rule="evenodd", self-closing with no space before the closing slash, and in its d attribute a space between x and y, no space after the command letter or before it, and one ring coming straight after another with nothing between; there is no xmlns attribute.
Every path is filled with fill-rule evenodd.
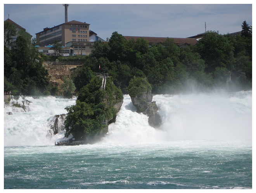
<svg viewBox="0 0 256 193"><path fill-rule="evenodd" d="M243 25L244 24L243 22ZM247 28L242 26L242 29ZM247 35L244 35L247 34ZM249 35L248 35L249 34ZM228 91L252 88L252 32L242 35L217 34L208 31L195 46L179 48L168 38L163 44L149 47L145 39L126 41L113 32L109 42L95 42L86 58L83 76L88 69L112 76L114 84L127 93L134 76L147 78L152 93L180 93L193 88L224 88ZM81 81L76 83L81 87Z"/></svg>

